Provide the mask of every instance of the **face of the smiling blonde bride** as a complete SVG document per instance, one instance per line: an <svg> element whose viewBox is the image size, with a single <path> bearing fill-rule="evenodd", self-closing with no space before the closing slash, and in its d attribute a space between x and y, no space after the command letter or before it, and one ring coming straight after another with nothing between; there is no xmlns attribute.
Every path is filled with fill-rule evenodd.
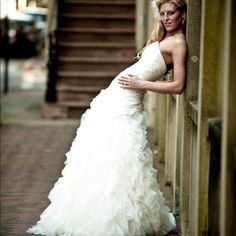
<svg viewBox="0 0 236 236"><path fill-rule="evenodd" d="M160 6L160 17L167 32L178 32L182 29L183 14L173 3L163 3Z"/></svg>

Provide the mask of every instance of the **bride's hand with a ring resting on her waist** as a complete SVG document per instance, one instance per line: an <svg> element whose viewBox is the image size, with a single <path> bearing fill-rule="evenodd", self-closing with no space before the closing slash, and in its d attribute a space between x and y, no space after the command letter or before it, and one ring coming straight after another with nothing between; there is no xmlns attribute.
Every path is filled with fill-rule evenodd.
<svg viewBox="0 0 236 236"><path fill-rule="evenodd" d="M134 90L144 90L144 81L138 76L127 74L122 75L118 78L118 83L121 88L124 89L134 89Z"/></svg>

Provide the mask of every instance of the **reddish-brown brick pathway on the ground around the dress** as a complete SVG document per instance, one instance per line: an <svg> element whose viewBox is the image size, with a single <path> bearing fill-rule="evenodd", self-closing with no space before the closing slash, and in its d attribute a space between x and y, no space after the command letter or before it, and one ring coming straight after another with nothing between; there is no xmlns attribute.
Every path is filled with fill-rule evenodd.
<svg viewBox="0 0 236 236"><path fill-rule="evenodd" d="M1 127L1 235L25 236L36 223L49 203L48 192L60 176L75 131L75 125ZM157 164L161 189L171 206L164 167L155 160Z"/></svg>

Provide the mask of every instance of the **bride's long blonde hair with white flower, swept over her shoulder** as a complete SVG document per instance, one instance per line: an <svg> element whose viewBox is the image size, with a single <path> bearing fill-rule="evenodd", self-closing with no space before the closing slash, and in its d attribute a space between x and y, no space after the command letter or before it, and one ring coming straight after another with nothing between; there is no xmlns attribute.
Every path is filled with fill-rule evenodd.
<svg viewBox="0 0 236 236"><path fill-rule="evenodd" d="M154 2L154 4L153 4L153 2ZM144 48L141 51L139 51L137 53L137 56L136 56L137 59L139 59L141 57L142 52L149 44L156 42L156 41L160 42L166 36L167 31L166 31L162 21L160 20L160 16L159 16L159 9L163 3L173 3L174 5L176 5L176 9L178 9L181 13L186 13L186 11L187 11L187 4L186 4L185 0L153 0L153 2L152 2L152 4L153 4L152 10L153 10L153 15L154 15L154 18L156 19L156 21L154 23L153 31L152 31L150 37L148 38L146 45L144 46ZM185 34L185 29L186 29L186 20L184 21L184 24L183 24L183 33L184 34Z"/></svg>

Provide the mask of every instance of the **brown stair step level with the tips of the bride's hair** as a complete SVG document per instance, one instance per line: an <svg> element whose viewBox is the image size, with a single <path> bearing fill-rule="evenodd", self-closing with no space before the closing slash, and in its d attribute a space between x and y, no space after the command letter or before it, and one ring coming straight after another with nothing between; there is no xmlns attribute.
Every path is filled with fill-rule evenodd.
<svg viewBox="0 0 236 236"><path fill-rule="evenodd" d="M133 59L134 43L60 42L59 56L124 57Z"/></svg>

